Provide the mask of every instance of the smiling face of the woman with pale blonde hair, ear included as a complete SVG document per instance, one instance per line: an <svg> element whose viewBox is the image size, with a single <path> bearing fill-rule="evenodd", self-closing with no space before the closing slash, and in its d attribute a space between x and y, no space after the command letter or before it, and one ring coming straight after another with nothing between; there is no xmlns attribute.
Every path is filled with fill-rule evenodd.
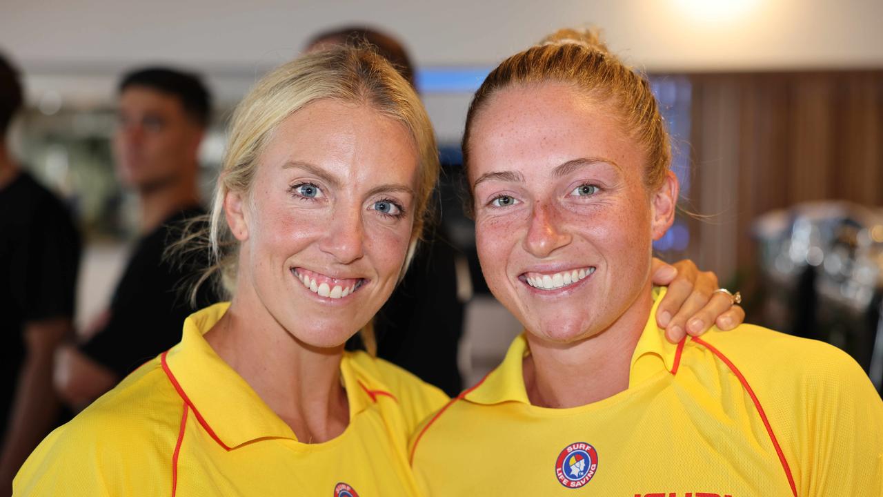
<svg viewBox="0 0 883 497"><path fill-rule="evenodd" d="M253 295L309 346L342 345L396 285L417 171L405 127L369 106L320 100L285 119L251 194L227 195L242 242L237 298Z"/></svg>

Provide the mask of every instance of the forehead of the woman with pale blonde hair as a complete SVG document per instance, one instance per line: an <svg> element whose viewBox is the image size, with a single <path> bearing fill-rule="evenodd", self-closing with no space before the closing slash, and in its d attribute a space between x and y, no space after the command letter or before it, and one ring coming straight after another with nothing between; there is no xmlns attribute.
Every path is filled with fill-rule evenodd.
<svg viewBox="0 0 883 497"><path fill-rule="evenodd" d="M369 176L411 183L418 150L407 128L364 103L323 99L307 104L276 127L264 162L303 161L353 180Z"/></svg>

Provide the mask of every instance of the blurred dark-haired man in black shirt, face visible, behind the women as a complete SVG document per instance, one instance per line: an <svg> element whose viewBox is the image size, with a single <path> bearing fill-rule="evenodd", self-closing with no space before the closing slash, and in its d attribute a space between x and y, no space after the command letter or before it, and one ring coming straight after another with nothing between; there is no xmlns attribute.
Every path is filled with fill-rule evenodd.
<svg viewBox="0 0 883 497"><path fill-rule="evenodd" d="M125 75L118 103L117 177L138 195L140 239L86 341L65 345L57 355L56 387L74 409L180 339L180 324L194 309L178 289L206 264L172 263L163 252L185 220L205 215L197 181L210 119L208 89L191 73L150 67ZM203 286L197 302L215 301Z"/></svg>

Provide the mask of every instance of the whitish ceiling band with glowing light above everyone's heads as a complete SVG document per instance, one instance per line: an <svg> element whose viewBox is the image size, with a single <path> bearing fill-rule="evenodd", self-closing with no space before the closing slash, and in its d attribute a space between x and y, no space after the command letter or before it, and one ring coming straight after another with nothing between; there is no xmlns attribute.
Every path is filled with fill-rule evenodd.
<svg viewBox="0 0 883 497"><path fill-rule="evenodd" d="M724 4L745 8L694 15ZM206 74L232 103L312 34L351 23L401 37L424 67L494 65L557 27L590 24L649 71L883 67L880 0L0 0L0 50L32 102L56 91L66 105L109 103L126 68L170 63Z"/></svg>

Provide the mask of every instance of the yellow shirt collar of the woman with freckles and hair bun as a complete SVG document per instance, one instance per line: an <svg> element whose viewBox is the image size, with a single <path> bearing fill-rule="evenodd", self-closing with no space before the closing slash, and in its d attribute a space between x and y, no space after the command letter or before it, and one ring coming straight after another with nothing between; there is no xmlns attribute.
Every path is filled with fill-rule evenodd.
<svg viewBox="0 0 883 497"><path fill-rule="evenodd" d="M669 343L665 332L656 325L656 310L665 296L665 287L653 288L653 308L638 339L638 345L631 356L629 386L636 386L659 371L676 371L681 344ZM487 377L467 390L463 396L467 401L479 404L495 404L516 401L530 404L525 389L522 362L530 354L525 334L519 335L509 346L502 363Z"/></svg>

